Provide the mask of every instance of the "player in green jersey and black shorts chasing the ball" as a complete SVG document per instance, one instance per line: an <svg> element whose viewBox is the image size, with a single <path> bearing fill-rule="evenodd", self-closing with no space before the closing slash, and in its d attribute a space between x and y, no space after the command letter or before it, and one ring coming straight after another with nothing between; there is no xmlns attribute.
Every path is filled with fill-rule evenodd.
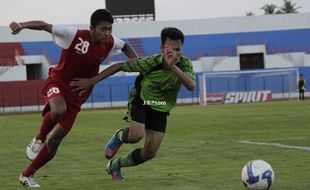
<svg viewBox="0 0 310 190"><path fill-rule="evenodd" d="M152 55L111 65L90 79L71 81L73 91L80 95L92 85L118 71L139 72L128 101L125 117L128 128L119 129L108 141L105 156L111 159L107 171L114 181L121 181L122 167L136 166L155 157L163 140L167 116L175 106L177 94L183 84L188 90L196 87L195 72L189 59L182 56L184 35L177 28L161 31L162 55ZM113 158L123 143L136 143L145 136L144 147ZM112 159L113 158L113 159Z"/></svg>

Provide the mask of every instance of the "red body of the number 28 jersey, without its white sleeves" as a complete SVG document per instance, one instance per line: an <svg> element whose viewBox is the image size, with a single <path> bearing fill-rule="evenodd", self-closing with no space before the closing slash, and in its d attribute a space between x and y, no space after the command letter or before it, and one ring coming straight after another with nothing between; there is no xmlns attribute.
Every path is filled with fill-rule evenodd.
<svg viewBox="0 0 310 190"><path fill-rule="evenodd" d="M113 44L114 39L110 36L108 42L94 45L88 30L78 30L70 47L62 49L58 66L51 70L51 76L65 83L75 77L90 78L95 76Z"/></svg>

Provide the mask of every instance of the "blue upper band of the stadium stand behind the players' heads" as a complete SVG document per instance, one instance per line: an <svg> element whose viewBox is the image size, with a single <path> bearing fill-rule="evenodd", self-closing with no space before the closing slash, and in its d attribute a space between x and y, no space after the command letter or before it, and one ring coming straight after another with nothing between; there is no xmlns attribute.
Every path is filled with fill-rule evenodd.
<svg viewBox="0 0 310 190"><path fill-rule="evenodd" d="M123 40L132 44L139 56L160 53L159 37L124 38ZM13 47L16 44L13 43L11 46ZM310 53L310 29L187 35L184 44L184 55L192 60L197 60L200 57L236 56L236 47L238 45L257 44L264 44L267 54ZM46 51L53 64L57 64L61 50L52 41L22 42L20 47L20 49L25 49L27 55L33 55L42 48ZM113 57L113 61L124 59L124 55Z"/></svg>

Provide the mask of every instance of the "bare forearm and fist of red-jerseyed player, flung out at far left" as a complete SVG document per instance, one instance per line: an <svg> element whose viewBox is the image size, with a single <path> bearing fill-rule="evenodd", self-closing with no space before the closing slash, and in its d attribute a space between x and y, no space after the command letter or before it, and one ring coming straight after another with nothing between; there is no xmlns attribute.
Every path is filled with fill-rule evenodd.
<svg viewBox="0 0 310 190"><path fill-rule="evenodd" d="M28 21L28 22L11 22L9 27L12 30L12 34L18 34L23 29L31 30L44 30L52 33L52 25L44 21Z"/></svg>

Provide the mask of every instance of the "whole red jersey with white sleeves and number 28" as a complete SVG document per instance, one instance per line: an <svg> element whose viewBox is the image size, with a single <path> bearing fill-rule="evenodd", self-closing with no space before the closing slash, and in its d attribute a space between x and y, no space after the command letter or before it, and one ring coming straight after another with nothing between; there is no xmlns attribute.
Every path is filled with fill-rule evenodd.
<svg viewBox="0 0 310 190"><path fill-rule="evenodd" d="M89 89L83 97L78 92L70 93L69 83L74 78L90 78L98 74L102 61L108 56L121 52L124 42L109 37L108 41L94 44L89 30L78 30L73 27L53 26L54 42L62 48L61 57L56 67L50 69L49 80L60 84L67 101L78 101L83 104L91 93Z"/></svg>

